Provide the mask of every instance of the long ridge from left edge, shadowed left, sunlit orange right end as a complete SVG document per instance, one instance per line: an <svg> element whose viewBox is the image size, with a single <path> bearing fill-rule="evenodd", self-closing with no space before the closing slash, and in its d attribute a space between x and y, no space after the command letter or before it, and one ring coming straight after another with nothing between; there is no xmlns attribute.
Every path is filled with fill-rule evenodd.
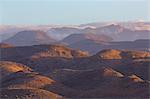
<svg viewBox="0 0 150 99"><path fill-rule="evenodd" d="M14 48L2 48L2 60L21 60L24 58L38 59L42 57L87 57L89 54L80 50L73 50L61 45L35 45Z"/></svg>

